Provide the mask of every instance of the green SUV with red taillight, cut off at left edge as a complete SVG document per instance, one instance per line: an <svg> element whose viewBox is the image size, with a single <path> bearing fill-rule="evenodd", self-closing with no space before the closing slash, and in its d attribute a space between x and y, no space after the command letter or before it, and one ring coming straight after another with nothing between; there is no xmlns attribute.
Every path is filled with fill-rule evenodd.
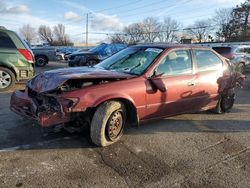
<svg viewBox="0 0 250 188"><path fill-rule="evenodd" d="M0 28L0 92L34 76L34 55L15 32Z"/></svg>

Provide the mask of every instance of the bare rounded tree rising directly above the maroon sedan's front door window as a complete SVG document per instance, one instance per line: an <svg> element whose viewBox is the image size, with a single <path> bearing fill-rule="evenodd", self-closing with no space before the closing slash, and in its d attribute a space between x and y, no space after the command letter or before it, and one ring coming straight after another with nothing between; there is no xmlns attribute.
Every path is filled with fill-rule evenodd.
<svg viewBox="0 0 250 188"><path fill-rule="evenodd" d="M172 19L171 17L164 18L161 23L161 32L159 33L159 41L160 42L174 42L177 40L177 32L180 29L181 24Z"/></svg>

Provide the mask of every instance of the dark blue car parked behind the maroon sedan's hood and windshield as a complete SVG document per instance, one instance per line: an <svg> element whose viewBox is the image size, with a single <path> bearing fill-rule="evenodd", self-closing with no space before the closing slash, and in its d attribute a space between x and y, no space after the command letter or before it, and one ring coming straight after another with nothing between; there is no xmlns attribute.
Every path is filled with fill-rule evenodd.
<svg viewBox="0 0 250 188"><path fill-rule="evenodd" d="M126 47L125 44L102 43L88 51L72 53L68 57L69 66L93 66Z"/></svg>

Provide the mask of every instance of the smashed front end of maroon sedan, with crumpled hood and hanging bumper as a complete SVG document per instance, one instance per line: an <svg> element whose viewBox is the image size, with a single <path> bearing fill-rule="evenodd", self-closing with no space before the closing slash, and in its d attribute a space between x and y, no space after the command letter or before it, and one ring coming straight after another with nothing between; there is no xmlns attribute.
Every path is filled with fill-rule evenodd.
<svg viewBox="0 0 250 188"><path fill-rule="evenodd" d="M43 127L71 122L77 119L79 113L86 111L86 107L82 105L74 108L80 96L71 97L71 92L130 77L132 76L94 68L44 72L30 80L25 90L12 94L10 108L21 116L36 119Z"/></svg>

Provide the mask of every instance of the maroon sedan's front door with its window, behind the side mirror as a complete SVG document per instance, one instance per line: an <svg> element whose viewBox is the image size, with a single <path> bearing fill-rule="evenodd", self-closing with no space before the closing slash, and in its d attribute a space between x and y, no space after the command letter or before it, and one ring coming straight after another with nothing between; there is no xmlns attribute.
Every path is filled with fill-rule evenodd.
<svg viewBox="0 0 250 188"><path fill-rule="evenodd" d="M147 116L145 119L171 116L195 111L196 75L189 49L170 51L155 69L156 79L164 84L166 91L147 93Z"/></svg>

